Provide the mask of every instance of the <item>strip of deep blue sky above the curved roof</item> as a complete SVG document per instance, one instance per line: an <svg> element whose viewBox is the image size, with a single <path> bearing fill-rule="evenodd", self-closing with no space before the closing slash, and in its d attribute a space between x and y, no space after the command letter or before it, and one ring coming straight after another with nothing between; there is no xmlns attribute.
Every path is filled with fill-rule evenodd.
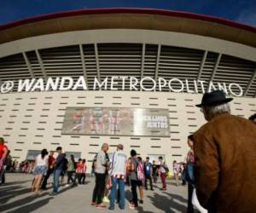
<svg viewBox="0 0 256 213"><path fill-rule="evenodd" d="M57 11L111 7L188 11L256 26L256 0L0 0L0 25Z"/></svg>

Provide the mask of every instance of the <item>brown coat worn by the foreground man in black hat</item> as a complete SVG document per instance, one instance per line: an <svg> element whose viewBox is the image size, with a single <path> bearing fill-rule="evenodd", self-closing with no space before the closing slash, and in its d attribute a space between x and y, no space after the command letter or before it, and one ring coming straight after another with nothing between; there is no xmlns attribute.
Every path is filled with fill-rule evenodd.
<svg viewBox="0 0 256 213"><path fill-rule="evenodd" d="M256 125L221 114L194 134L195 187L209 212L256 212Z"/></svg>

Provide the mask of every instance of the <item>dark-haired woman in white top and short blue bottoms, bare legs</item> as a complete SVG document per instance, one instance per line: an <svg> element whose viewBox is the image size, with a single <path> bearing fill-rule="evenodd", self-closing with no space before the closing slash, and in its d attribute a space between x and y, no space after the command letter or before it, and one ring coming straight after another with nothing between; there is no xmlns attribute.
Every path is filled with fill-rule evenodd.
<svg viewBox="0 0 256 213"><path fill-rule="evenodd" d="M32 182L32 192L38 192L43 176L46 176L48 170L48 152L43 149L36 158L36 164L34 169L34 180Z"/></svg>

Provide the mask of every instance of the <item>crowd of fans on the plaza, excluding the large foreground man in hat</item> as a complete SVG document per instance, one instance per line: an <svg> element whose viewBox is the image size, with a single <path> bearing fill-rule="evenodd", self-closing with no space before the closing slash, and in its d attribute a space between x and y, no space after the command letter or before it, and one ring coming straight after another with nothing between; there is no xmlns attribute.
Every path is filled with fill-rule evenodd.
<svg viewBox="0 0 256 213"><path fill-rule="evenodd" d="M5 148L8 150L6 146ZM143 204L143 190L154 191L154 183L159 178L162 184L161 190L166 190L166 176L170 176L168 174L171 171L161 156L157 161L153 160L150 163L149 157L144 160L137 156L135 150L131 150L131 157L126 158L123 149L123 145L119 144L117 151L113 153L113 158L109 158L108 144L104 143L101 152L97 153L93 159L92 170L96 176L96 186L91 204L96 205L96 208L106 208L104 201L110 202L109 209L113 209L117 186L119 186L118 200L121 209L125 208L125 184L131 186L132 197L129 204L131 209L137 209L138 203ZM56 158L55 155L57 155ZM5 158L11 158L9 151ZM173 162L173 174L176 174L176 170L177 174L182 172L181 168L182 164ZM49 176L52 175L53 191L50 195L55 196L58 194L58 188L65 185L63 184L65 174L67 174L66 187L84 184L87 165L85 159L79 158L78 162L75 162L73 155L67 158L66 154L62 153L62 148L57 147L55 152L43 149L33 162L24 161L19 164L16 160L13 162L10 160L9 166L5 167L6 170L32 173L34 175L32 192L35 193L48 189ZM139 196L137 196L137 190Z"/></svg>

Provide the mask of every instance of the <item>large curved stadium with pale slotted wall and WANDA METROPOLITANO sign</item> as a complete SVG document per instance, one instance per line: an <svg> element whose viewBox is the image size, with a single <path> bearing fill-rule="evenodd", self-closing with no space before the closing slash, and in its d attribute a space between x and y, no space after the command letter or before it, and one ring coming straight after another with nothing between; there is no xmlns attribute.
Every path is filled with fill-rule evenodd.
<svg viewBox="0 0 256 213"><path fill-rule="evenodd" d="M61 146L183 161L201 93L256 112L256 28L160 9L83 9L0 26L0 135L18 161Z"/></svg>

